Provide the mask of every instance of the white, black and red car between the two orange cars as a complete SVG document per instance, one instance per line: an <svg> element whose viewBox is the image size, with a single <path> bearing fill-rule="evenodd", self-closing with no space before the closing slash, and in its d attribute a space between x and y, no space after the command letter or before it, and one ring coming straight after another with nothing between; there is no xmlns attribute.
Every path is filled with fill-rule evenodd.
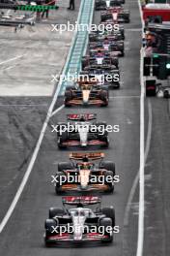
<svg viewBox="0 0 170 256"><path fill-rule="evenodd" d="M74 123L58 123L58 147L88 145L108 147L109 139L105 122L90 122L97 119L97 114L68 114L68 120ZM65 127L63 129L63 127ZM71 129L70 129L71 128ZM100 131L102 129L102 131Z"/></svg>

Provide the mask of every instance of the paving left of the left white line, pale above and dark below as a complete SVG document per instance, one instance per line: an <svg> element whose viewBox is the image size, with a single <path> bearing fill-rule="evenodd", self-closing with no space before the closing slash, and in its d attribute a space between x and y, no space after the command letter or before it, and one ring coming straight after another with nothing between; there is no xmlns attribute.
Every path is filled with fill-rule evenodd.
<svg viewBox="0 0 170 256"><path fill-rule="evenodd" d="M55 12L51 17L49 13L48 21L57 23L60 20L62 23L63 14L63 23L66 23L67 17L73 22L76 20L78 9L79 2L76 1L75 12L61 7L60 15ZM33 29L25 27L17 33L14 33L13 28L1 26L0 35L1 64L3 62L0 65L0 96L8 96L0 97L2 219L14 198L39 138L54 90L52 75L60 74L63 68L72 33L70 37L68 32L59 35L51 32L49 24L36 24ZM68 45L67 48L62 40ZM12 63L5 61L21 53L27 54L24 59L14 59ZM14 97L16 95L17 97ZM24 95L34 97L23 97Z"/></svg>

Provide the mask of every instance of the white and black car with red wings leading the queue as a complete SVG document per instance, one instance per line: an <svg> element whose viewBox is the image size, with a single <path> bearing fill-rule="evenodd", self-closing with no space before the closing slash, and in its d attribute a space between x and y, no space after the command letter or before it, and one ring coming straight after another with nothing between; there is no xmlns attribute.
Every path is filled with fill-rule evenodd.
<svg viewBox="0 0 170 256"><path fill-rule="evenodd" d="M59 242L112 242L115 226L113 207L101 208L101 199L93 196L63 197L63 208L49 208L45 220L46 246Z"/></svg>

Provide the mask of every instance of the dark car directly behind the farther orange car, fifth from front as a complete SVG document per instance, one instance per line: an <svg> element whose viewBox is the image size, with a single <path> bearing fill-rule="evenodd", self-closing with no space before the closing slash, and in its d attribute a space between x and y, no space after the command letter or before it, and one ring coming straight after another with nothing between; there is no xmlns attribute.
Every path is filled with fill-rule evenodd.
<svg viewBox="0 0 170 256"><path fill-rule="evenodd" d="M120 88L120 72L114 65L91 65L80 72L81 75L89 76L98 80L98 84L109 88Z"/></svg>

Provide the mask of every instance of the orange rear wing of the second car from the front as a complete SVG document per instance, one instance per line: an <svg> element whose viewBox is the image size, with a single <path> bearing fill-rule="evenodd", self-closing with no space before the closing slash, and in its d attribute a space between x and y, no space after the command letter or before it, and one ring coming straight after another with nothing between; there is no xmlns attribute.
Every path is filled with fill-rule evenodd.
<svg viewBox="0 0 170 256"><path fill-rule="evenodd" d="M102 152L88 152L88 153L77 153L72 152L70 154L70 159L73 160L83 160L83 159L89 159L89 160L99 160L104 158L104 153Z"/></svg>

